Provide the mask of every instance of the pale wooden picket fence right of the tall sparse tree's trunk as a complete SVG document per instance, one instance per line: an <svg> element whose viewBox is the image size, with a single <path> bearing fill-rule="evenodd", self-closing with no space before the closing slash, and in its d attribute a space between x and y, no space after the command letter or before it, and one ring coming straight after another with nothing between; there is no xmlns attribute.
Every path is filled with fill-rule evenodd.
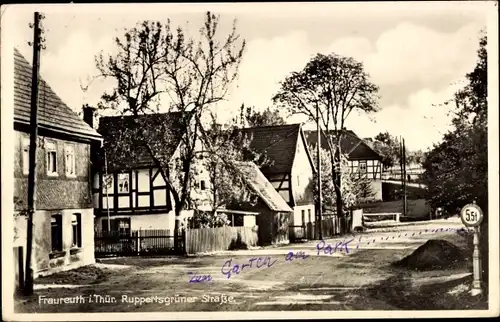
<svg viewBox="0 0 500 322"><path fill-rule="evenodd" d="M257 246L259 241L257 226L187 229L185 238L187 254Z"/></svg>

